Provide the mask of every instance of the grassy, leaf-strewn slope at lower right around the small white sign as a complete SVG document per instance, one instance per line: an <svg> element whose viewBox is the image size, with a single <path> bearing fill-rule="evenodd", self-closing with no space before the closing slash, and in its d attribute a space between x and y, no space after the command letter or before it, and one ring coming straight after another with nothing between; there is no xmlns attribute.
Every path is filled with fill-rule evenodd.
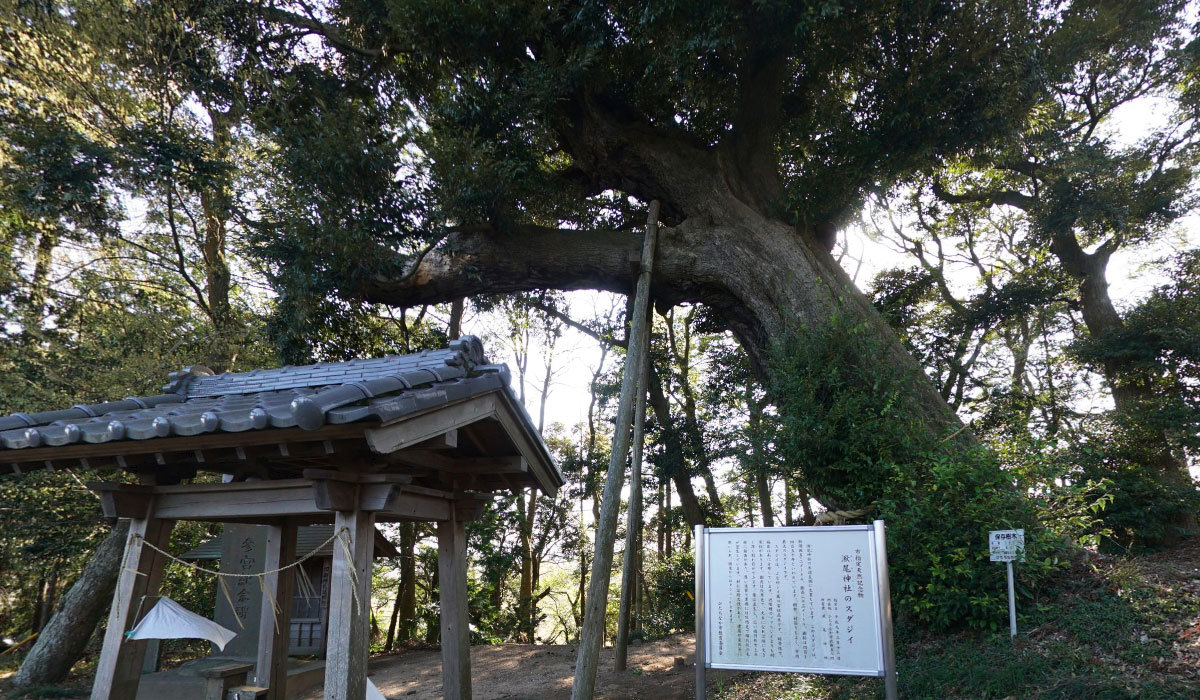
<svg viewBox="0 0 1200 700"><path fill-rule="evenodd" d="M1000 566L1000 564L997 564ZM1148 557L1088 556L1004 629L896 630L900 696L916 699L1200 698L1200 545ZM866 700L876 678L744 675L718 700Z"/></svg>

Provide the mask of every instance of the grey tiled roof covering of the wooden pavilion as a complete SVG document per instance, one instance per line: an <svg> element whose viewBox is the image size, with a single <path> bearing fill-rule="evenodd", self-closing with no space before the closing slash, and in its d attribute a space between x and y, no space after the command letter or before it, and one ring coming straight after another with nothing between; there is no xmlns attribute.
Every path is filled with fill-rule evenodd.
<svg viewBox="0 0 1200 700"><path fill-rule="evenodd" d="M169 378L154 396L0 418L0 449L392 420L506 388L509 370L464 336L409 355L223 375L193 366Z"/></svg>

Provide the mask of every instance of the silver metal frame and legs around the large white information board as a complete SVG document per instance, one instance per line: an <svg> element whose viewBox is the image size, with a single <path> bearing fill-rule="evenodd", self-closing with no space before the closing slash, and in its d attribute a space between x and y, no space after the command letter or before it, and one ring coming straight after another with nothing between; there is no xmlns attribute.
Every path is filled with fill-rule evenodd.
<svg viewBox="0 0 1200 700"><path fill-rule="evenodd" d="M874 546L872 570L875 573L876 598L875 610L877 612L876 629L880 639L880 666L881 671L853 671L830 670L798 666L768 666L751 664L714 664L709 660L708 650L708 614L706 610L706 596L709 588L709 534L724 532L738 533L785 533L785 532L870 532L870 542ZM834 525L817 527L695 527L694 542L696 543L696 699L706 699L706 683L708 669L722 670L755 670L775 671L791 674L824 674L840 676L866 676L882 677L887 700L899 698L896 688L895 671L895 645L892 639L892 594L888 584L888 555L887 534L882 520L876 520L872 525Z"/></svg>

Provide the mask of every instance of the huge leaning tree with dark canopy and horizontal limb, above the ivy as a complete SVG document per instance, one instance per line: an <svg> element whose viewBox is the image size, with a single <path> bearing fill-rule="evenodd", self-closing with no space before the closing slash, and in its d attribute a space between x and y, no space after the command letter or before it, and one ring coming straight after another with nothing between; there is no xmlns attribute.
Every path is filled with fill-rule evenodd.
<svg viewBox="0 0 1200 700"><path fill-rule="evenodd" d="M829 256L834 232L868 190L1006 133L1056 28L1009 0L233 7L234 41L295 42L264 54L295 89L256 112L302 146L280 174L313 196L259 222L283 309L318 277L401 306L629 292L625 198L659 199L656 299L714 309L764 375L773 345L834 313L890 339ZM365 173L380 152L391 168ZM367 202L384 184L408 195ZM931 427L954 420L924 382L911 400Z"/></svg>

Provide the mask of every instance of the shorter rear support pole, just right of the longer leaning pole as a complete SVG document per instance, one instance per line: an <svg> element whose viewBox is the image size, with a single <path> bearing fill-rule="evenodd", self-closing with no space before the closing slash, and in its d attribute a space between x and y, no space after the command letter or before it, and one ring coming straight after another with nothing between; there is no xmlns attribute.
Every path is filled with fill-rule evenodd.
<svg viewBox="0 0 1200 700"><path fill-rule="evenodd" d="M653 225L652 225L653 226ZM650 235L647 232L647 235ZM630 611L637 587L637 569L641 556L642 532L642 451L646 447L646 381L650 373L650 327L647 318L646 343L638 363L637 399L634 403L634 457L629 472L629 510L625 522L625 557L620 564L620 610L617 614L617 640L613 642L613 668L624 671L629 665Z"/></svg>

